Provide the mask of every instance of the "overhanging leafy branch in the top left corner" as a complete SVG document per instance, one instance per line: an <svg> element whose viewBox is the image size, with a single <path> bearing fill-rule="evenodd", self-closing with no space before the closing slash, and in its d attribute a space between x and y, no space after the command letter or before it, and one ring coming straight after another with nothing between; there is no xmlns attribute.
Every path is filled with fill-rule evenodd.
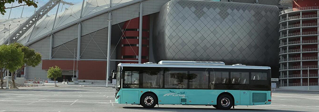
<svg viewBox="0 0 319 112"><path fill-rule="evenodd" d="M13 7L5 7L4 5L7 4L7 3L13 3L15 1L18 1L18 3L20 5L18 6L13 6ZM6 13L5 9L9 9L9 8L15 8L15 7L20 7L20 6L24 6L24 5L27 5L27 6L33 6L35 8L38 7L37 5L38 2L35 2L35 0L0 0L0 13L2 15L4 15L4 13Z"/></svg>

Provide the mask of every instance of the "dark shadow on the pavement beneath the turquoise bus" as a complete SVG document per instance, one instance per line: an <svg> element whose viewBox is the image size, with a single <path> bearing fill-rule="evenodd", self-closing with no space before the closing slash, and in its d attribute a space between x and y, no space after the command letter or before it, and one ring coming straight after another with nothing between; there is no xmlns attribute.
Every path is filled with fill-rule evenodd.
<svg viewBox="0 0 319 112"><path fill-rule="evenodd" d="M217 110L215 108L167 108L167 107L155 107L154 109L144 109L143 107L123 107L123 109L133 110L152 110L152 111L174 111L174 112L301 112L301 111L285 111L285 110L264 110L264 109L230 109L230 110Z"/></svg>

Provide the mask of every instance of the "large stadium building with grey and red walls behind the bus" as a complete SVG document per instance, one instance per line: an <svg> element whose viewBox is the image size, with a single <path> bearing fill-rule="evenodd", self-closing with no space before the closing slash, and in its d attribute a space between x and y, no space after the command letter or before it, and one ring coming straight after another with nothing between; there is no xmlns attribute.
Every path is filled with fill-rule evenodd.
<svg viewBox="0 0 319 112"><path fill-rule="evenodd" d="M291 45L280 42L292 40L278 37L294 33L282 29L292 23L283 19L297 13L279 13L283 1L83 0L63 9L70 3L49 0L28 18L0 20L0 43L20 42L42 54L40 65L21 73L26 79L48 79L47 70L57 65L63 70L59 81L75 75L105 83L120 62L195 60L270 66L284 85L291 79L282 76L292 72L282 68L293 64L281 61L292 56L283 56Z"/></svg>

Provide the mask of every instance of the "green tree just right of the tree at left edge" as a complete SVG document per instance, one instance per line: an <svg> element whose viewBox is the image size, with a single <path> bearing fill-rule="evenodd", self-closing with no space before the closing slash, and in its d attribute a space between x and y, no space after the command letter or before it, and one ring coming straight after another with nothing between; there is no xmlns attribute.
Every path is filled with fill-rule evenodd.
<svg viewBox="0 0 319 112"><path fill-rule="evenodd" d="M12 75L12 77L15 77L15 75L22 72L22 70L26 68L27 66L35 67L41 63L41 54L35 52L34 49L24 46L21 43L14 43L11 45L15 46L18 49L21 49L21 51L24 53L23 66L19 67L18 71L16 71L15 74ZM13 88L17 88L14 78L12 78L12 83L13 83Z"/></svg>

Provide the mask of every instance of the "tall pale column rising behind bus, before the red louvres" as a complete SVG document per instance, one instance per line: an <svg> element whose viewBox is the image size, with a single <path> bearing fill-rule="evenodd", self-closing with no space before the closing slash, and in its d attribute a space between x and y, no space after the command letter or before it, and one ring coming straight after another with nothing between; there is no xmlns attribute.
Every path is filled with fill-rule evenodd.
<svg viewBox="0 0 319 112"><path fill-rule="evenodd" d="M139 4L139 29L138 29L138 63L142 63L142 32L143 32L143 4Z"/></svg>

